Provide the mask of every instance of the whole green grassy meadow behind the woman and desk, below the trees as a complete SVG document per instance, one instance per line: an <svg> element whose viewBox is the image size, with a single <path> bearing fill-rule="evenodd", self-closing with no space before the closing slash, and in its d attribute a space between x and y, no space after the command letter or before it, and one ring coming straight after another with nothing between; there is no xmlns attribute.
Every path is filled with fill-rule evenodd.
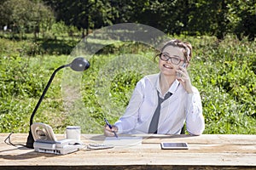
<svg viewBox="0 0 256 170"><path fill-rule="evenodd" d="M255 42L232 36L222 42L215 37L180 38L194 46L189 75L201 92L204 133L256 134ZM0 132L28 132L33 108L52 72L67 64L70 48L65 47L73 47L74 42L58 42L61 46L38 42L31 54L34 42L0 39ZM49 54L45 47L51 47ZM48 123L56 133L63 133L70 124L82 126L83 133L102 133L103 117L115 122L136 82L158 71L154 54L153 48L143 44L115 43L94 55L81 77L68 68L59 71L34 122ZM71 75L78 81L68 79Z"/></svg>

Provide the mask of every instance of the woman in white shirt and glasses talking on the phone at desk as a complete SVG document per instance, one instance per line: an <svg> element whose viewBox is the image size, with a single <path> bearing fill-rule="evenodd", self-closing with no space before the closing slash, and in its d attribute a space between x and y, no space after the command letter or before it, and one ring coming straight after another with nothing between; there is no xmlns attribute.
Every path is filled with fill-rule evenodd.
<svg viewBox="0 0 256 170"><path fill-rule="evenodd" d="M186 122L189 134L200 135L205 128L201 96L193 87L188 71L192 46L172 40L160 50L160 73L143 77L133 91L124 116L110 129L114 133L179 134Z"/></svg>

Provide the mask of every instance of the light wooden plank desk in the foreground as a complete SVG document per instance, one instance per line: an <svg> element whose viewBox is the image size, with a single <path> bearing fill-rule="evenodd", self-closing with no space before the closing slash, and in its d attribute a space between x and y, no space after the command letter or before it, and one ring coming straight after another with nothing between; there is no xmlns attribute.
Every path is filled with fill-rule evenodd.
<svg viewBox="0 0 256 170"><path fill-rule="evenodd" d="M256 135L145 135L142 145L79 150L64 156L5 144L8 135L0 135L0 169L256 169ZM14 133L11 141L26 144L26 137L26 133ZM84 144L103 139L82 135ZM160 142L187 142L189 150L161 150Z"/></svg>

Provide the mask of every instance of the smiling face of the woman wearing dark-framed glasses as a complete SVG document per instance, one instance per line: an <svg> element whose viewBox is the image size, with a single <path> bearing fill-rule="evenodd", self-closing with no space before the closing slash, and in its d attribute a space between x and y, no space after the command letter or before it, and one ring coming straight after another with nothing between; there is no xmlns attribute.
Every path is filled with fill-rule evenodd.
<svg viewBox="0 0 256 170"><path fill-rule="evenodd" d="M180 65L183 65L183 60L184 60L183 48L169 45L162 50L161 55L162 55L161 56L162 59L159 59L160 72L168 77L170 76L176 77L177 75L176 70L178 70ZM168 59L168 57L171 57L173 59ZM163 60L163 59L168 59L168 60ZM173 64L173 63L176 63L175 60L177 61L179 59L181 59L179 64Z"/></svg>

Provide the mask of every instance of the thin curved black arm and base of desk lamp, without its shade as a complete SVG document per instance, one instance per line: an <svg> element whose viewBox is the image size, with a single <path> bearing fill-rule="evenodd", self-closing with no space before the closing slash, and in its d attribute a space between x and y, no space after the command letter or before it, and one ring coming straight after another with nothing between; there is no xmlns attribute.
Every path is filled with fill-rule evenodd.
<svg viewBox="0 0 256 170"><path fill-rule="evenodd" d="M46 94L46 92L47 92L47 90L48 90L48 88L49 88L50 83L53 81L56 72L60 71L61 69L65 68L65 67L68 67L68 66L70 66L70 64L68 64L68 65L61 65L59 68L57 68L57 69L52 73L51 77L49 78L49 81L48 81L46 87L44 88L44 92L43 92L43 94L41 95L40 99L38 100L38 104L36 105L35 109L34 109L33 112L32 112L32 115L31 115L31 117L30 117L29 135L28 135L27 140L26 140L26 147L28 147L28 148L33 148L34 139L33 139L33 137L32 137L31 125L32 125L32 123L33 123L33 118L34 118L36 112L38 111L38 107L39 107L39 105L41 104L42 100L44 99L44 95Z"/></svg>

